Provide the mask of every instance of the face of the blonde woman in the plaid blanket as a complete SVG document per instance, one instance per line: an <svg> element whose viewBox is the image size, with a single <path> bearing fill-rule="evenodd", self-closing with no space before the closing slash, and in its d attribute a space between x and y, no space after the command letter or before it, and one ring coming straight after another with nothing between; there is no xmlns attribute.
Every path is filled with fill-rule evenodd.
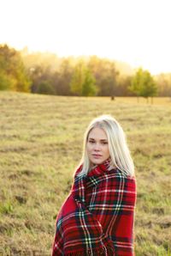
<svg viewBox="0 0 171 256"><path fill-rule="evenodd" d="M106 132L101 128L93 128L86 143L88 157L93 164L101 164L109 158L109 144Z"/></svg>

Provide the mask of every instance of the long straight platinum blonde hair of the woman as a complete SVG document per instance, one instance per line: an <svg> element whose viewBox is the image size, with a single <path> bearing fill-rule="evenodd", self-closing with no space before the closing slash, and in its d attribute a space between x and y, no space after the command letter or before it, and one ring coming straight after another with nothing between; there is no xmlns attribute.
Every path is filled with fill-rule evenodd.
<svg viewBox="0 0 171 256"><path fill-rule="evenodd" d="M102 115L93 119L85 131L83 155L80 164L83 165L82 170L78 176L87 174L91 167L86 143L90 131L95 128L101 128L106 132L109 144L110 168L118 168L123 174L133 176L134 165L130 151L127 147L127 140L121 125L110 115Z"/></svg>

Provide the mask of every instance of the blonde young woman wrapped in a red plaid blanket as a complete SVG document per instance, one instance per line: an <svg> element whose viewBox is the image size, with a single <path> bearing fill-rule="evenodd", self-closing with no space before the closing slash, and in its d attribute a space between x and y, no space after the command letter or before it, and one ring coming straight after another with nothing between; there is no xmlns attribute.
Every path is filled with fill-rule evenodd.
<svg viewBox="0 0 171 256"><path fill-rule="evenodd" d="M133 255L135 202L133 160L121 125L108 115L93 119L56 218L52 255Z"/></svg>

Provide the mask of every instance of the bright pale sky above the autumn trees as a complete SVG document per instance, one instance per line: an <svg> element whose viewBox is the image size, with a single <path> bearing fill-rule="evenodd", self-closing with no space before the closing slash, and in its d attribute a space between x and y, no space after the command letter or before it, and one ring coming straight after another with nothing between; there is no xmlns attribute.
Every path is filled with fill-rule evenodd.
<svg viewBox="0 0 171 256"><path fill-rule="evenodd" d="M0 44L171 72L171 0L0 0Z"/></svg>

